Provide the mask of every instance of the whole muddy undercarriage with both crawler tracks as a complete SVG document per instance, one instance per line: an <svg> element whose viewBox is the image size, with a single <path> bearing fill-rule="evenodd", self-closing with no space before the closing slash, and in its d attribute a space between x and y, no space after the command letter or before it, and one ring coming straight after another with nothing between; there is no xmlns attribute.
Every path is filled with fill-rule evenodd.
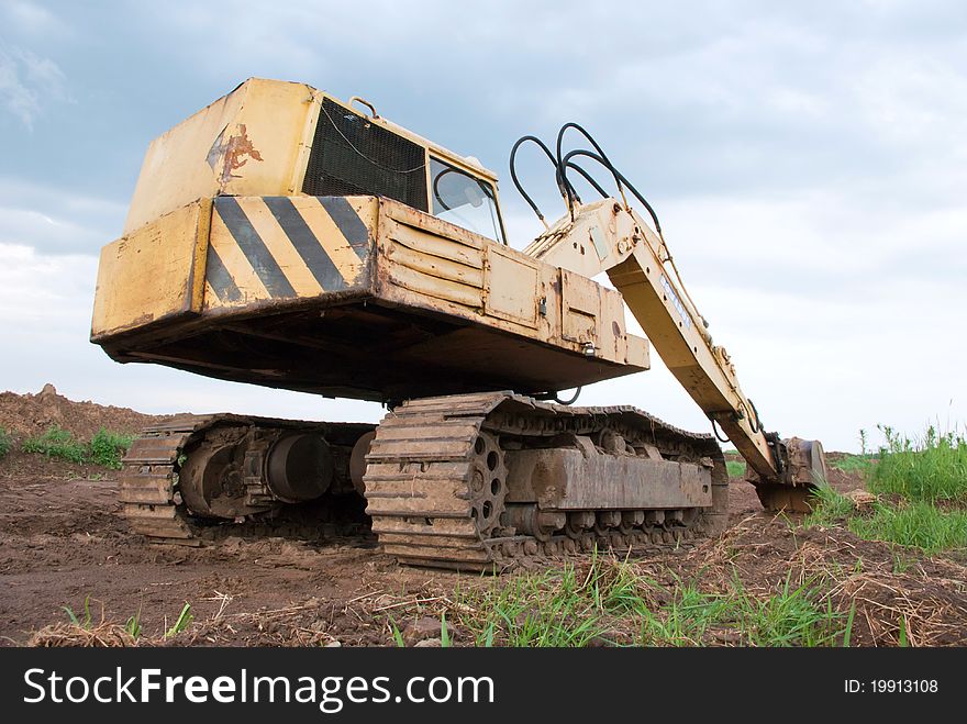
<svg viewBox="0 0 967 724"><path fill-rule="evenodd" d="M492 570L716 535L727 491L711 436L630 406L496 392L409 401L378 426L178 417L132 446L121 500L160 543L225 525L370 530L400 563Z"/></svg>

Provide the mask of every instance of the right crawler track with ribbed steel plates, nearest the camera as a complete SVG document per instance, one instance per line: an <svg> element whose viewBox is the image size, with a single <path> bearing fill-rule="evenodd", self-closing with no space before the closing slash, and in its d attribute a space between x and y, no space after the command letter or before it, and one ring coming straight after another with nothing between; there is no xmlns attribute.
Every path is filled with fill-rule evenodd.
<svg viewBox="0 0 967 724"><path fill-rule="evenodd" d="M709 506L691 510L581 511L594 523L565 534L521 534L505 524L507 455L562 435L602 442L620 436L663 459L711 469ZM721 533L727 519L724 457L710 435L678 430L632 406L571 408L509 392L409 401L377 427L364 477L373 532L387 554L413 566L493 570L527 565L594 546L644 552ZM516 511L533 521L524 506ZM641 520L644 519L644 520ZM579 519L578 519L579 520ZM587 520L587 519L586 519ZM540 531L540 521L531 523Z"/></svg>

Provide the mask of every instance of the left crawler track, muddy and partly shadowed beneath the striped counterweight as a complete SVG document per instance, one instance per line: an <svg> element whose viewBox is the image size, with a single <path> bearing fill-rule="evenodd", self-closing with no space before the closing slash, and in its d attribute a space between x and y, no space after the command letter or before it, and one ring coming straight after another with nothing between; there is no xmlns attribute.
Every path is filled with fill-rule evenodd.
<svg viewBox="0 0 967 724"><path fill-rule="evenodd" d="M213 524L238 523L244 520L246 524L259 524L271 520L275 530L279 530L279 523L297 521L294 511L304 509L305 503L287 504L291 501L280 501L277 495L266 486L263 472L263 458L267 455L269 442L263 439L259 449L258 444L254 450L246 450L245 477L238 480L237 491L240 515L213 514L210 510L199 513L191 510L184 490L186 481L180 479L182 470L189 466L193 458L204 450L210 438L227 434L234 434L236 438L244 438L249 431L258 431L262 438L278 439L286 434L313 433L333 443L336 455L335 467L336 481L333 488L338 490L340 495L330 495L322 501L326 508L331 499L340 501L337 505L329 505L332 510L329 514L315 520L310 520L310 527L319 523L321 531L323 524L329 531L344 533L357 531L362 520L363 501L353 490L348 480L348 460L353 443L360 436L373 430L374 425L354 423L312 423L292 420L275 420L267 417L252 417L233 414L212 415L178 415L167 422L153 425L144 430L131 445L127 455L122 461L120 479L121 514L129 522L135 533L146 536L154 543L166 543L185 546L199 546L202 539L210 537L214 530ZM249 464L249 457L253 463ZM360 515L349 516L352 520L333 521L343 511L352 510L344 504L344 499L357 498ZM320 505L316 505L319 508ZM316 511L318 513L318 511ZM303 515L304 519L304 515ZM298 521L304 523L305 521ZM365 522L365 521L364 521ZM345 523L341 525L341 523ZM290 526L289 530L293 530ZM241 528L240 528L241 530ZM264 531L263 531L264 532Z"/></svg>

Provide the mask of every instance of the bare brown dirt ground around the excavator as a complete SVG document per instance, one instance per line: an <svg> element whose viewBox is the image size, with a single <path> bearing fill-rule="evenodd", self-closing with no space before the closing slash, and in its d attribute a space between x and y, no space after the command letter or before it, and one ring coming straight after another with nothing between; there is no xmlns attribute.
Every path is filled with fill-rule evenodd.
<svg viewBox="0 0 967 724"><path fill-rule="evenodd" d="M131 432L148 420L51 390L0 394L0 425L21 439L51 421L85 438L101 425ZM64 606L82 616L89 598L95 623L123 624L140 613L151 637L190 603L193 623L171 639L178 645L391 645L388 615L403 621L421 605L445 608L457 584L488 584L401 567L365 536L148 545L116 514L116 479L115 471L18 450L0 460L0 644L23 645L44 626L67 622ZM834 471L832 483L847 491L862 481ZM732 527L723 538L647 565L658 576L723 580L737 570L754 589L834 563L842 571L833 581L836 605L856 606L855 643L894 644L903 616L911 643L967 644L967 569L959 563L898 554L841 530L796 530L787 517L765 513L742 481L733 483L731 501Z"/></svg>

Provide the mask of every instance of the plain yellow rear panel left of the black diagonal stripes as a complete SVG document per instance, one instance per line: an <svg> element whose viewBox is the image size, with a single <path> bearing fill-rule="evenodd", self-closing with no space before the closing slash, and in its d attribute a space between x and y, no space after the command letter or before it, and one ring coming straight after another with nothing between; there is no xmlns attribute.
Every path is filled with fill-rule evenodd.
<svg viewBox="0 0 967 724"><path fill-rule="evenodd" d="M196 201L101 249L92 341L201 311L210 218Z"/></svg>

